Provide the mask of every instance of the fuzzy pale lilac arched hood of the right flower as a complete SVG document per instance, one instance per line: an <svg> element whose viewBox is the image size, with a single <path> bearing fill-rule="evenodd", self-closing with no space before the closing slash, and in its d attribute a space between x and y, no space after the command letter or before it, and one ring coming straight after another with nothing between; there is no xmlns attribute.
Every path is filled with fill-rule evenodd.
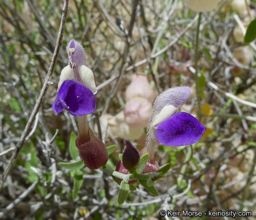
<svg viewBox="0 0 256 220"><path fill-rule="evenodd" d="M190 88L188 86L180 86L170 88L156 97L154 103L153 114L158 114L164 106L174 106L176 109L180 108L190 97Z"/></svg>

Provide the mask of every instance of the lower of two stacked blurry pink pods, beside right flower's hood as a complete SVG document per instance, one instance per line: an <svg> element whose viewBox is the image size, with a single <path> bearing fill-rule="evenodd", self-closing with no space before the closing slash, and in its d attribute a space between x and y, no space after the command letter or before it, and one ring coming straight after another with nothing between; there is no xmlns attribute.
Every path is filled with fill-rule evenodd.
<svg viewBox="0 0 256 220"><path fill-rule="evenodd" d="M152 110L152 103L146 98L132 98L124 107L125 122L136 129L147 127Z"/></svg>

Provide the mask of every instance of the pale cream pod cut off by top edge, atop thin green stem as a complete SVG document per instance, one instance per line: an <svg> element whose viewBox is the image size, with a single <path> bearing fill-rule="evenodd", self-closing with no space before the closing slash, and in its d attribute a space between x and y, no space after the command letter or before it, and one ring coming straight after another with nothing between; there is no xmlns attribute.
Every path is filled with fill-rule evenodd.
<svg viewBox="0 0 256 220"><path fill-rule="evenodd" d="M214 9L221 0L185 0L188 8L195 12L209 12Z"/></svg>

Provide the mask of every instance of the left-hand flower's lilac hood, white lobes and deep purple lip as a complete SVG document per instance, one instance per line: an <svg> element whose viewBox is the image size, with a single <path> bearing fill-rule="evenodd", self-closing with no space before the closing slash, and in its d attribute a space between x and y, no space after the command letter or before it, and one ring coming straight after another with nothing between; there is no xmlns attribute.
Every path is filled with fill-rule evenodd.
<svg viewBox="0 0 256 220"><path fill-rule="evenodd" d="M92 71L85 66L84 49L72 39L67 45L67 53L69 63L60 73L58 94L52 109L56 114L63 109L75 116L92 114L96 108L93 94L97 89Z"/></svg>

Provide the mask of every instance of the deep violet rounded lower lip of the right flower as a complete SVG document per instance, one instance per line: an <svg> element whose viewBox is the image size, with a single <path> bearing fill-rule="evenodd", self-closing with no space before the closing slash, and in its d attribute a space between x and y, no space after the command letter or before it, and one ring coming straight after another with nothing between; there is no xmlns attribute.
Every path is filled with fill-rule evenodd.
<svg viewBox="0 0 256 220"><path fill-rule="evenodd" d="M157 126L156 137L166 146L185 146L199 141L205 130L206 127L192 115L177 112Z"/></svg>

